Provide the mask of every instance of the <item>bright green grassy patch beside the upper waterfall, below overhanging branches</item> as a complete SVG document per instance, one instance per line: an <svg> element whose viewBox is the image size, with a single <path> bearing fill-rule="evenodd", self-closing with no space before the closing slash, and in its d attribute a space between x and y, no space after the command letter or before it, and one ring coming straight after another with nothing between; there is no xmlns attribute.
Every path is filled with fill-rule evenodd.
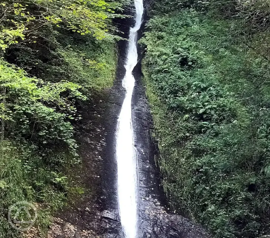
<svg viewBox="0 0 270 238"><path fill-rule="evenodd" d="M55 73L49 71L47 77L52 77L52 74L56 80L66 77L82 85L86 91L102 90L113 85L117 67L115 42L84 37L65 39L63 45L66 45L65 50L61 49L59 53L64 64L53 67Z"/></svg>

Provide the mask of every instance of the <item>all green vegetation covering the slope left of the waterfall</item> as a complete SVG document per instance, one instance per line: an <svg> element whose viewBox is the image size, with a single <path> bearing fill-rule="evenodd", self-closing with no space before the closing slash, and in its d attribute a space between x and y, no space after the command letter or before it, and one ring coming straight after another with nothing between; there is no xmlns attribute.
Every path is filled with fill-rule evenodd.
<svg viewBox="0 0 270 238"><path fill-rule="evenodd" d="M113 83L119 37L111 19L123 17L115 13L122 5L121 0L1 1L1 238L19 237L8 223L12 204L35 204L33 234L42 236L50 215L66 202L63 168L80 162L72 126L80 119L76 105ZM28 219L25 212L21 219Z"/></svg>

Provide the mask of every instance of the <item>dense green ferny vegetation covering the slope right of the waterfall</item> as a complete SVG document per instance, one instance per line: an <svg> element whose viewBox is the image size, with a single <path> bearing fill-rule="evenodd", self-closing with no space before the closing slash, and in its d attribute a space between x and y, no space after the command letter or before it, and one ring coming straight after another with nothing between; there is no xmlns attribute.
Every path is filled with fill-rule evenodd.
<svg viewBox="0 0 270 238"><path fill-rule="evenodd" d="M269 234L269 1L153 10L140 43L171 206L215 237Z"/></svg>

